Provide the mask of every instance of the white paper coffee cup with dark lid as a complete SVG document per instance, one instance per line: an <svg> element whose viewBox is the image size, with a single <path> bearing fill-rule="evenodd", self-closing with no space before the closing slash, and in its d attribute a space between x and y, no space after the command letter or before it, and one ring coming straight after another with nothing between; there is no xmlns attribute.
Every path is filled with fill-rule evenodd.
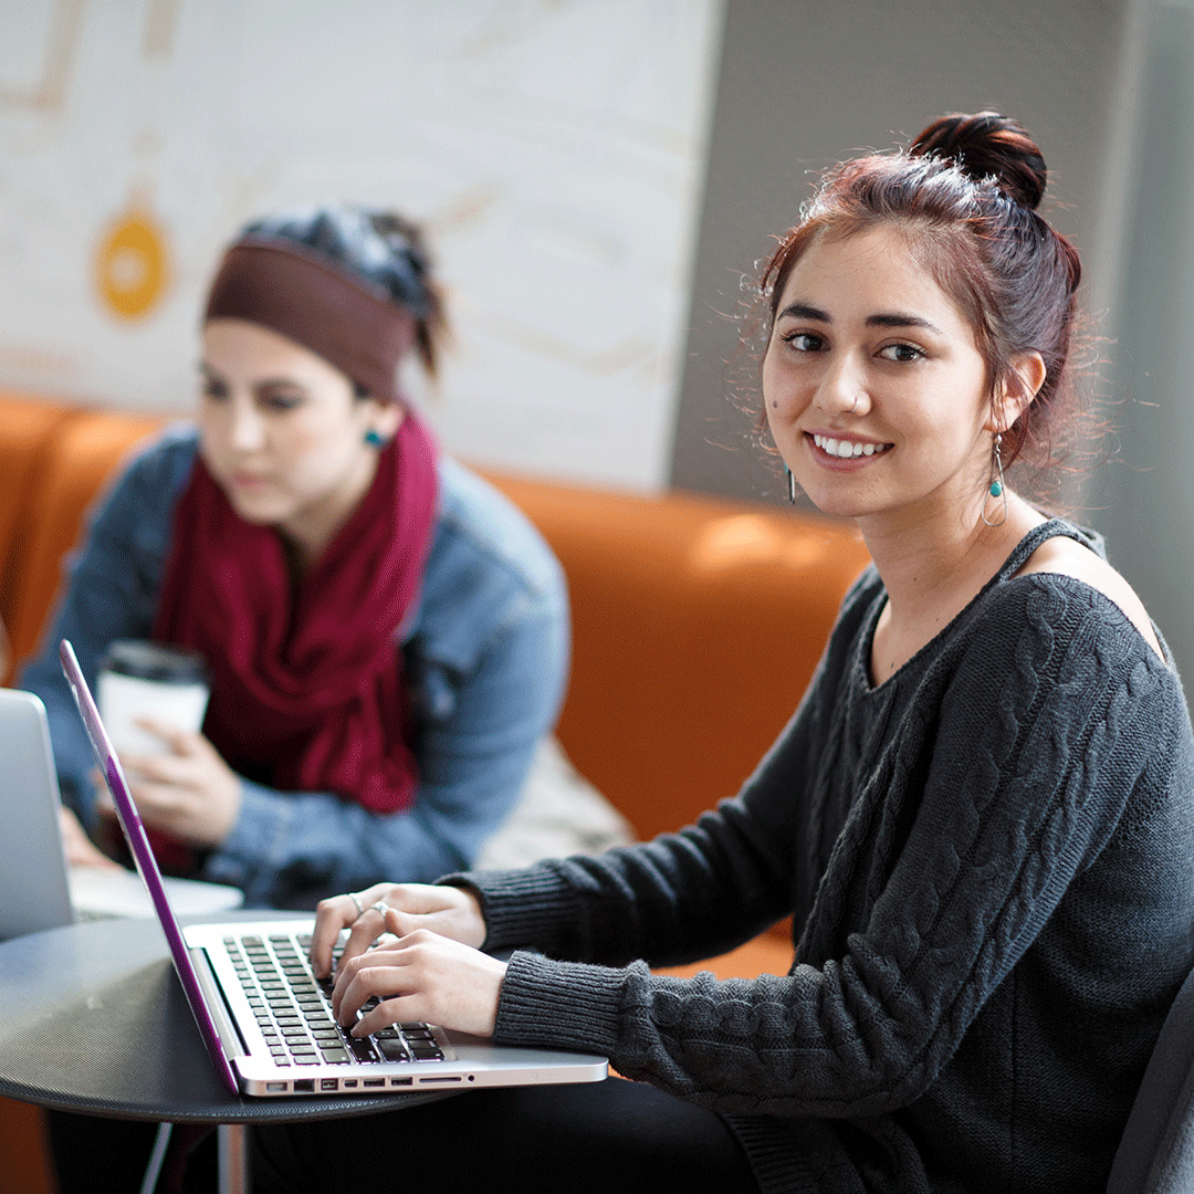
<svg viewBox="0 0 1194 1194"><path fill-rule="evenodd" d="M207 667L193 651L118 639L99 664L99 715L118 755L160 755L166 750L160 738L136 724L137 718L198 732L208 694Z"/></svg>

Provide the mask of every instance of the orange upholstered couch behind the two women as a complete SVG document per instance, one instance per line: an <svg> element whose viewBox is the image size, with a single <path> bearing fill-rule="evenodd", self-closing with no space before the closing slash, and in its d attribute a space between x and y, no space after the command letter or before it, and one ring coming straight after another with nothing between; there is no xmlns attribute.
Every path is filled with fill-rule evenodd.
<svg viewBox="0 0 1194 1194"><path fill-rule="evenodd" d="M37 644L87 505L160 421L0 394L0 621L18 660ZM486 475L568 577L559 737L573 763L640 837L690 823L739 787L795 708L867 560L861 538L745 503ZM710 968L786 973L789 960L781 931ZM13 1114L0 1107L0 1133Z"/></svg>

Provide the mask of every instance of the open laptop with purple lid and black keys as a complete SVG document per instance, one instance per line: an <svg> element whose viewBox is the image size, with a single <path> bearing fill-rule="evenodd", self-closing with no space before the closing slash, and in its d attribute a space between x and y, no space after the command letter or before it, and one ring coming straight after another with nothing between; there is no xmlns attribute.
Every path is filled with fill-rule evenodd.
<svg viewBox="0 0 1194 1194"><path fill-rule="evenodd" d="M333 1022L328 985L307 962L314 919L233 921L179 927L136 806L129 796L74 651L66 673L116 804L121 827L161 922L178 978L211 1061L228 1089L248 1095L599 1082L603 1057L496 1045L437 1024L400 1024L351 1038Z"/></svg>

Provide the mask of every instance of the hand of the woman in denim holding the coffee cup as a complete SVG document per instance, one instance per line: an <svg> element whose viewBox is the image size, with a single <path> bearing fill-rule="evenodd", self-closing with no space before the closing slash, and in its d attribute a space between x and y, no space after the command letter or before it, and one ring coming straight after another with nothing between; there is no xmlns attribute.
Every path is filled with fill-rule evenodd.
<svg viewBox="0 0 1194 1194"><path fill-rule="evenodd" d="M121 756L141 819L190 845L219 845L240 816L240 776L202 734L149 718L137 725L167 747L160 755ZM105 804L111 806L110 798Z"/></svg>

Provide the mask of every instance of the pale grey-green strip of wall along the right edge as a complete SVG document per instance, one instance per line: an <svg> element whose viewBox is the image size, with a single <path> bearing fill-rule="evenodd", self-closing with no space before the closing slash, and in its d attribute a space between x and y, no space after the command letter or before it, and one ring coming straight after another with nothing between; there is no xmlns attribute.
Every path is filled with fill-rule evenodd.
<svg viewBox="0 0 1194 1194"><path fill-rule="evenodd" d="M1194 6L1149 7L1115 304L1115 454L1093 476L1112 561L1194 683Z"/></svg>

